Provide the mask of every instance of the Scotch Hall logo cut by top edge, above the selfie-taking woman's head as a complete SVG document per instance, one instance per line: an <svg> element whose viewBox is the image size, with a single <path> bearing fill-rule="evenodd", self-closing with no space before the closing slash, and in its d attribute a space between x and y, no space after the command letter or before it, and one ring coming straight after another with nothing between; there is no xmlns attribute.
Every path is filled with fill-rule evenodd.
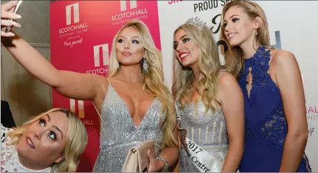
<svg viewBox="0 0 318 173"><path fill-rule="evenodd" d="M148 18L147 8L138 8L137 0L120 0L118 1L120 14L111 16L112 25L126 24L130 19Z"/></svg>

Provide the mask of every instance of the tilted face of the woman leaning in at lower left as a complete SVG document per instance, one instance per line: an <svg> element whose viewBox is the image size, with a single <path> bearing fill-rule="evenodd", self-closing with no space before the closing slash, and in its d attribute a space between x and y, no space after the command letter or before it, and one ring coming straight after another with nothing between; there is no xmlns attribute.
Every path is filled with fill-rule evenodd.
<svg viewBox="0 0 318 173"><path fill-rule="evenodd" d="M69 119L65 113L48 113L26 126L17 144L19 156L30 162L52 165L63 160Z"/></svg>

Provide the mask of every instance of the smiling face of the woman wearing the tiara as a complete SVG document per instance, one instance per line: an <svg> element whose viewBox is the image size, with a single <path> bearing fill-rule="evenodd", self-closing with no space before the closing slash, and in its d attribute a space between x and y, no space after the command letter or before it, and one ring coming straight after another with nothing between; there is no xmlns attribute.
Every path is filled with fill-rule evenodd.
<svg viewBox="0 0 318 173"><path fill-rule="evenodd" d="M193 67L197 65L200 49L182 28L175 33L173 49L175 49L175 58L182 66Z"/></svg>

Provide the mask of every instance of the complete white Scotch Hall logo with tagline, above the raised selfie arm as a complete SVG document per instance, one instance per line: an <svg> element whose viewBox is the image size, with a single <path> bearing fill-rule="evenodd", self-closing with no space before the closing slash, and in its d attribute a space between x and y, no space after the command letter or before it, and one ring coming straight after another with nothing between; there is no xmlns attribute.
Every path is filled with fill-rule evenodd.
<svg viewBox="0 0 318 173"><path fill-rule="evenodd" d="M80 22L80 3L73 3L65 6L65 28L58 29L59 38L66 38L64 46L73 47L75 44L81 44L83 38L81 33L88 32L86 22Z"/></svg>

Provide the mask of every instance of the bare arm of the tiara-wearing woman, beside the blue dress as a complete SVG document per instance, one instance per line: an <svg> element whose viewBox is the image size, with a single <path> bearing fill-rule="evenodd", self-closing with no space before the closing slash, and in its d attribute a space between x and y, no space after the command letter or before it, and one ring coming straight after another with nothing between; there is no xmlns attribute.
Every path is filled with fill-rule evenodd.
<svg viewBox="0 0 318 173"><path fill-rule="evenodd" d="M218 79L218 99L221 100L228 130L229 149L222 172L237 172L244 152L244 99L239 84L232 74L222 74Z"/></svg>

